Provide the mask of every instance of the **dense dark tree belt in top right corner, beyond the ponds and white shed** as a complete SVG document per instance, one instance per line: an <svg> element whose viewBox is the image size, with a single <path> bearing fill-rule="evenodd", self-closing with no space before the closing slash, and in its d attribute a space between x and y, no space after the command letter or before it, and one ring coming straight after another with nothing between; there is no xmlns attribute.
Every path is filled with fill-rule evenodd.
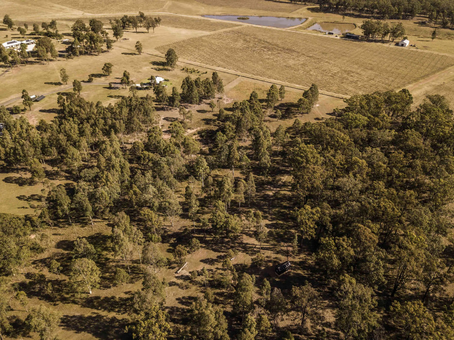
<svg viewBox="0 0 454 340"><path fill-rule="evenodd" d="M454 4L450 0L316 0L320 8L341 13L378 15L382 18L402 19L423 15L443 27L454 25Z"/></svg>

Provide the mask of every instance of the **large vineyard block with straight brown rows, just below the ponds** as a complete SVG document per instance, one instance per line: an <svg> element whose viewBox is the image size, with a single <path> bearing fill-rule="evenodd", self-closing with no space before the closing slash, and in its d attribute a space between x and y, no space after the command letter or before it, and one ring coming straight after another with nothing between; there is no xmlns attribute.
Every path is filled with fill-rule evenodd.
<svg viewBox="0 0 454 340"><path fill-rule="evenodd" d="M251 26L190 38L182 59L352 95L398 89L454 65L454 57L375 43Z"/></svg>

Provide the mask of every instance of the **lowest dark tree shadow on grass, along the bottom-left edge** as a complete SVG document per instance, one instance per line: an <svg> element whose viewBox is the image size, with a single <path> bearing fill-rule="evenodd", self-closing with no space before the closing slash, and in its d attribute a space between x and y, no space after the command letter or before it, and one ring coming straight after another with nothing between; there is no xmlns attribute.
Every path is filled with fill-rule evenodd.
<svg viewBox="0 0 454 340"><path fill-rule="evenodd" d="M63 315L61 326L76 333L89 333L96 338L106 340L129 339L124 329L129 323L126 318L105 316L99 313L85 315Z"/></svg>

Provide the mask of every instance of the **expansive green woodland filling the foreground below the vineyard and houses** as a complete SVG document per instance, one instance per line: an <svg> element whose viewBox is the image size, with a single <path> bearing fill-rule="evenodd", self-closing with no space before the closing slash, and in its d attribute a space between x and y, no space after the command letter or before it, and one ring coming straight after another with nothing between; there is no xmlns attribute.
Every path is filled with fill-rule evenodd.
<svg viewBox="0 0 454 340"><path fill-rule="evenodd" d="M127 72L123 77L129 82ZM121 330L133 339L454 337L446 291L454 281L454 119L443 97L412 109L407 90L353 96L324 122L296 119L272 132L265 113L285 96L283 86L272 85L266 98L254 91L219 107L203 139L187 134L181 107L183 121L171 122L164 138L155 102L208 102L222 92L222 79L215 72L188 77L170 101L154 87L155 98L132 91L108 105L61 94L56 118L36 126L0 108L0 165L28 170L45 187L35 213L0 215L2 336L23 327L53 339L61 315L46 301L71 296L89 304L94 289L138 281L141 288L122 306L129 319ZM318 95L314 84L289 105L309 113ZM53 184L50 169L68 181ZM289 174L289 193L270 209L262 197ZM175 238L178 219L188 223ZM88 226L96 234L99 221L111 227L102 246L88 236L59 255L47 252L53 226ZM232 246L242 235L255 239L251 268L232 261L247 246ZM304 278L299 260L287 281L252 274L272 263L263 246L274 241L291 244L289 256L311 259L302 261ZM190 269L186 284L197 297L166 308L162 269L220 248L219 267ZM52 277L28 273L26 282L12 284L43 256ZM36 307L36 297L43 306ZM27 310L23 320L16 304ZM325 319L328 307L332 320ZM190 317L178 319L180 312Z"/></svg>

